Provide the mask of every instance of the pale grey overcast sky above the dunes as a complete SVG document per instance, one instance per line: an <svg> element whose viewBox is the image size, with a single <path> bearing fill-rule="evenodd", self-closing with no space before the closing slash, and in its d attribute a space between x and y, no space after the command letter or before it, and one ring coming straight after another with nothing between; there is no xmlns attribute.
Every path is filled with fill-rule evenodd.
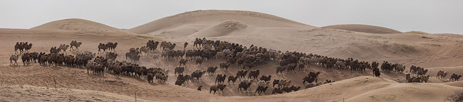
<svg viewBox="0 0 463 102"><path fill-rule="evenodd" d="M0 28L83 18L121 29L195 10L246 10L322 27L370 24L463 34L463 0L0 0Z"/></svg>

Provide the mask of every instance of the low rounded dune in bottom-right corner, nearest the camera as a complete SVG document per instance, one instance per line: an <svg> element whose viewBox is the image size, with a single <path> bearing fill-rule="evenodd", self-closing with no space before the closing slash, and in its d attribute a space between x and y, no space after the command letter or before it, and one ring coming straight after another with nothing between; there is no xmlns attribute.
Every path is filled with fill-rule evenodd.
<svg viewBox="0 0 463 102"><path fill-rule="evenodd" d="M392 84L352 97L346 102L442 102L462 87L444 84Z"/></svg>

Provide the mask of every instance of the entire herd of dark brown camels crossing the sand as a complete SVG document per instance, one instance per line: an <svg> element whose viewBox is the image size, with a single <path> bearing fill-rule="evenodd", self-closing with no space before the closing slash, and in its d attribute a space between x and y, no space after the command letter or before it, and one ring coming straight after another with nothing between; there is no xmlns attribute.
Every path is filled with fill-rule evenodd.
<svg viewBox="0 0 463 102"><path fill-rule="evenodd" d="M213 41L206 38L196 38L194 41L194 49L186 49L188 42L184 43L183 50L174 50L176 44L172 42L157 42L149 40L146 46L140 48L130 48L129 52L125 53L125 60L116 60L118 54L115 48L117 42L100 43L98 45L98 54L92 52L78 51L82 42L75 40L69 45L61 44L58 48L51 47L50 52L29 52L32 48L32 43L17 42L14 46L15 54L10 56L10 65L18 65L17 60L21 57L23 65L31 63L39 63L42 66L67 66L75 68L85 68L88 74L104 75L111 73L115 77L121 75L131 76L133 78L145 78L148 83L164 83L169 78L169 70L160 67L139 66L139 60L142 56L149 57L154 60L178 60L180 66L175 67L174 73L176 85L184 85L190 81L197 82L206 73L215 75L216 70L228 70L231 65L236 64L242 68L236 72L236 75L217 74L215 85L210 87L209 93L215 94L217 91L223 91L227 86L225 82L233 84L239 79L238 90L245 92L250 89L250 85L255 83L257 88L254 94L265 93L269 87L273 87L272 94L292 92L300 90L300 86L292 84L291 79L273 79L272 76L261 75L260 69L253 69L255 66L261 66L266 63L277 63L275 67L276 74L294 73L296 70L304 70L310 66L321 66L327 72L335 70L350 70L351 72L365 73L368 70L373 72L373 75L379 77L381 73L403 73L406 66L397 63L383 61L381 66L378 62L359 61L353 58L341 59L317 54L306 54L300 52L282 52L269 48L257 47L251 45L249 47L238 43L230 43L226 41ZM159 50L157 49L159 46ZM66 50L77 50L76 54L67 54ZM73 48L75 47L75 49ZM101 50L102 49L102 50ZM104 53L104 54L103 54ZM147 55L147 54L150 54ZM201 63L209 60L217 59L221 61L219 67L210 66L207 70L195 70L191 74L183 73L185 64L188 61L195 62L196 66L201 66ZM13 63L14 62L14 63ZM183 65L183 66L182 66ZM297 69L296 69L297 68ZM430 75L427 75L427 69L419 66L410 66L409 73L404 74L408 83L429 82ZM321 84L332 83L334 81L324 80L319 81L318 75L321 72L309 72L301 78L305 88L315 87ZM439 71L436 78L446 78L448 72ZM246 77L247 75L247 77ZM228 76L228 77L227 77ZM452 74L450 80L458 80L462 75ZM260 77L260 78L259 78ZM228 79L227 79L228 78ZM272 86L269 86L272 83ZM278 84L276 87L275 85ZM202 86L198 87L201 90Z"/></svg>

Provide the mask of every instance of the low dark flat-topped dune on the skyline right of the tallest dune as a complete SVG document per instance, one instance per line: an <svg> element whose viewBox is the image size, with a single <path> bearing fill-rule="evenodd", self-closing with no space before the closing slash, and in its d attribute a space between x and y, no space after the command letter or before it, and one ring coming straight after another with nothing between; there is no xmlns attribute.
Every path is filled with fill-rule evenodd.
<svg viewBox="0 0 463 102"><path fill-rule="evenodd" d="M324 26L322 28L349 30L349 31L375 33L375 34L402 33L400 31L385 28L385 27L374 26L374 25L364 25L364 24L339 24L339 25Z"/></svg>

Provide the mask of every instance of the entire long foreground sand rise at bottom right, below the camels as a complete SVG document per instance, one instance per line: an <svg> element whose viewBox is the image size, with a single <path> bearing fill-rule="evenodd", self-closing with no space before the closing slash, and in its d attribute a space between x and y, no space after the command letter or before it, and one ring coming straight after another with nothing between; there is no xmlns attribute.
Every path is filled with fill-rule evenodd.
<svg viewBox="0 0 463 102"><path fill-rule="evenodd" d="M440 102L445 96L462 90L462 87L444 84L399 84L385 78L361 76L298 92L233 97L226 101L342 102L344 99L345 102Z"/></svg>

